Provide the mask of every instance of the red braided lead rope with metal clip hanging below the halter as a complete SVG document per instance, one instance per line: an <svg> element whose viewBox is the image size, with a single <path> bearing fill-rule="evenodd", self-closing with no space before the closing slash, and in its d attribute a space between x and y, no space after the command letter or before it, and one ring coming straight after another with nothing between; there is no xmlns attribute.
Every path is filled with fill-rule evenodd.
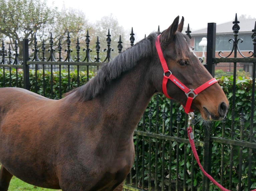
<svg viewBox="0 0 256 191"><path fill-rule="evenodd" d="M201 165L200 163L200 160L199 160L199 157L198 157L198 154L197 154L197 150L196 150L196 147L195 147L195 143L194 143L194 135L193 135L193 131L192 131L192 127L190 126L190 121L194 118L194 113L193 112L190 112L188 113L188 127L187 127L187 135L188 135L188 138L189 138L189 142L190 142L190 145L191 145L191 149L193 151L193 154L196 158L196 161L199 165L199 167L201 168L202 172L204 173L204 175L209 178L216 186L218 186L222 191L231 191L231 190L228 190L227 188L224 188L221 184L219 184L210 174L208 174L205 169L203 168L203 166ZM256 191L256 189L252 190L252 191Z"/></svg>

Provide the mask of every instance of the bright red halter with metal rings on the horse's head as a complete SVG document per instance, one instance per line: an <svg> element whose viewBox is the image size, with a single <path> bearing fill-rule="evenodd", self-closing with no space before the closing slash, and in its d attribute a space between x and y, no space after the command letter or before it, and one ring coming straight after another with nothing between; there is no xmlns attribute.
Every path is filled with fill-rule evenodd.
<svg viewBox="0 0 256 191"><path fill-rule="evenodd" d="M217 82L217 80L215 78L213 78L213 79L211 79L208 82L204 83L203 85L201 85L200 87L198 87L195 90L187 88L177 78L175 78L175 76L173 76L171 71L168 69L167 63L166 63L166 61L165 61L165 59L163 57L163 52L162 52L161 47L160 47L159 37L160 37L160 35L158 35L157 38L156 38L155 46L156 46L158 57L160 59L162 67L163 67L163 83L162 83L163 94L166 97L171 98L167 94L167 88L166 88L167 82L168 82L168 80L170 80L177 87L179 87L185 93L185 95L187 96L186 106L185 107L183 106L183 108L185 109L185 113L188 114L188 112L192 112L193 111L193 110L190 109L190 106L192 104L193 99L195 99L195 97L200 92L202 92L203 90L207 89L209 86L215 84ZM169 76L167 76L167 74L169 74ZM188 96L190 94L192 94L193 97Z"/></svg>

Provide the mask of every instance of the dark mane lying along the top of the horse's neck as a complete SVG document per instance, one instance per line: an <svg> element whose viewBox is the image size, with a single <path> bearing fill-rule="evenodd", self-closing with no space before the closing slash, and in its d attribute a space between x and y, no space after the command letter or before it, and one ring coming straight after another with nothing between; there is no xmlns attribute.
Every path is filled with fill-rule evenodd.
<svg viewBox="0 0 256 191"><path fill-rule="evenodd" d="M117 55L113 60L103 64L97 75L85 85L73 90L75 96L80 100L90 100L100 93L113 80L119 78L124 72L133 69L138 61L152 54L156 33L151 33L147 38L142 39L133 47ZM71 94L68 93L68 94Z"/></svg>

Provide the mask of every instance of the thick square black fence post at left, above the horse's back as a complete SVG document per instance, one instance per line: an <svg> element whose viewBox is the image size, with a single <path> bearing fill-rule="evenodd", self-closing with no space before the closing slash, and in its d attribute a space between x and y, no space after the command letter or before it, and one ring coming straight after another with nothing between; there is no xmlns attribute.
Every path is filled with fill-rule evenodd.
<svg viewBox="0 0 256 191"><path fill-rule="evenodd" d="M22 51L23 51L23 82L24 82L24 89L30 90L29 66L27 65L27 61L29 60L28 39L23 39L23 41L22 41Z"/></svg>

